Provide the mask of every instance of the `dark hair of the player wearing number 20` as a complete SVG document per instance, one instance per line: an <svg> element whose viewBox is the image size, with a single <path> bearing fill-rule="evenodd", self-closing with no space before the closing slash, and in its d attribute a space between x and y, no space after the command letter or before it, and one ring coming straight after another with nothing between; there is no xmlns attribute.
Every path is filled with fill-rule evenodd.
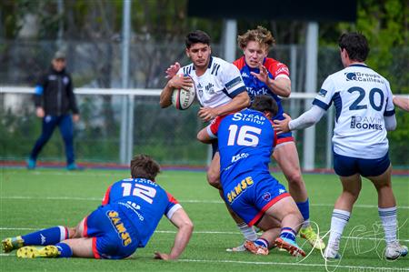
<svg viewBox="0 0 409 272"><path fill-rule="evenodd" d="M359 62L365 61L369 54L369 45L365 36L357 33L344 33L339 37L338 45L341 49L345 49L351 60Z"/></svg>

